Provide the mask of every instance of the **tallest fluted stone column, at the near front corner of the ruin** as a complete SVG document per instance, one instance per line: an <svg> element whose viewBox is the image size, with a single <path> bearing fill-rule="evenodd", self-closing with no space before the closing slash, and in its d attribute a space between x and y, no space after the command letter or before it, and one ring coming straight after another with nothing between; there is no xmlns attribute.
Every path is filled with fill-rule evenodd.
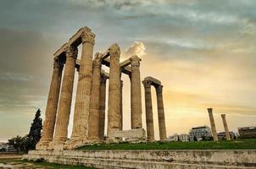
<svg viewBox="0 0 256 169"><path fill-rule="evenodd" d="M83 144L83 141L87 139L92 87L92 55L94 38L95 35L91 31L85 31L81 35L81 64L75 97L73 130L70 142L67 143L68 149L72 148L72 146L75 147L76 145Z"/></svg>

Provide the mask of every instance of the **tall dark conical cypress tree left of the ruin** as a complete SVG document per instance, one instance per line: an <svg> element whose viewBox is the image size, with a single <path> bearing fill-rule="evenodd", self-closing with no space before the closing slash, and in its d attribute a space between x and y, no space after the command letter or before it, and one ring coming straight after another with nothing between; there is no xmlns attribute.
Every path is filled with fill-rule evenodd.
<svg viewBox="0 0 256 169"><path fill-rule="evenodd" d="M40 116L41 116L41 111L40 111L40 109L38 109L36 111L36 116L33 120L33 123L31 123L30 133L27 135L27 138L26 138L26 149L27 150L35 150L36 143L41 138L42 118Z"/></svg>

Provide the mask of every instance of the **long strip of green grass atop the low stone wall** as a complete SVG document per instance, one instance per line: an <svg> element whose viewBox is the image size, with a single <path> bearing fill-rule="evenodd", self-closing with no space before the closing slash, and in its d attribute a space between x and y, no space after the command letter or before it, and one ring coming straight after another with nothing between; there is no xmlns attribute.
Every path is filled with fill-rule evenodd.
<svg viewBox="0 0 256 169"><path fill-rule="evenodd" d="M86 145L78 150L256 150L256 139Z"/></svg>

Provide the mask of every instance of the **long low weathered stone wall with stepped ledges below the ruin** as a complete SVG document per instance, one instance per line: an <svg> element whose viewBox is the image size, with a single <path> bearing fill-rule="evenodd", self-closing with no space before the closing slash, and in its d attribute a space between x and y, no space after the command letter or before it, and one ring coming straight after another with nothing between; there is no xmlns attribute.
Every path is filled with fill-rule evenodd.
<svg viewBox="0 0 256 169"><path fill-rule="evenodd" d="M24 159L97 168L256 168L256 150L31 150Z"/></svg>

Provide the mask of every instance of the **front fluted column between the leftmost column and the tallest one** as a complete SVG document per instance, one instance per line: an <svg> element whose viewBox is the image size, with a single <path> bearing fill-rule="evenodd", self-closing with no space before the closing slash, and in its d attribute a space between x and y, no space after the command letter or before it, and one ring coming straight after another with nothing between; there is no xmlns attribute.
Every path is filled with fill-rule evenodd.
<svg viewBox="0 0 256 169"><path fill-rule="evenodd" d="M58 115L53 138L54 150L63 150L64 142L66 141L68 136L68 125L70 121L70 108L73 93L76 57L77 48L70 46L66 52L64 77L61 87L60 99L58 104Z"/></svg>

